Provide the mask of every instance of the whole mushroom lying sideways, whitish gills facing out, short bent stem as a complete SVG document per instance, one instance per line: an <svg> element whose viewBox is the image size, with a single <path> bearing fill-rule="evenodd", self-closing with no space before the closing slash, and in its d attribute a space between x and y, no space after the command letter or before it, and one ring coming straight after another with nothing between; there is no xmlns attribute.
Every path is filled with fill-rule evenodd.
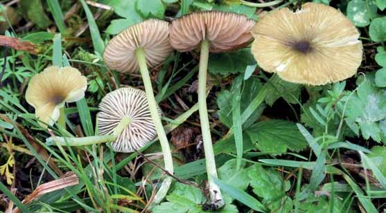
<svg viewBox="0 0 386 213"><path fill-rule="evenodd" d="M85 146L113 142L114 151L132 152L156 136L146 93L140 89L129 87L108 93L100 102L99 110L96 120L100 136L53 137L47 140L48 144Z"/></svg>

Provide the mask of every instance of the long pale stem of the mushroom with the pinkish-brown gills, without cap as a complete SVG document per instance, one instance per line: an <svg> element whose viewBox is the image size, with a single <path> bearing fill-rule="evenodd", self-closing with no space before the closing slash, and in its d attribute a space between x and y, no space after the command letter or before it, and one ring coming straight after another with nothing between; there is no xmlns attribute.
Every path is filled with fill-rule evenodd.
<svg viewBox="0 0 386 213"><path fill-rule="evenodd" d="M198 111L200 113L200 123L202 141L204 143L205 161L207 165L207 175L209 183L209 198L211 203L217 208L225 205L220 188L213 182L213 177L217 178L216 161L214 159L211 129L209 126L207 110L207 68L209 58L210 43L207 39L201 41L200 50L200 69L198 71Z"/></svg>

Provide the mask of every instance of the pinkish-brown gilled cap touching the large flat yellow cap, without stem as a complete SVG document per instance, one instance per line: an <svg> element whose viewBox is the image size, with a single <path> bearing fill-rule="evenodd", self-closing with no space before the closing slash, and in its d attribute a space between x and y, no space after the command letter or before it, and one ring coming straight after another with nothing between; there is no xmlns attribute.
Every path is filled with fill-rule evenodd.
<svg viewBox="0 0 386 213"><path fill-rule="evenodd" d="M253 39L254 21L233 12L193 12L170 24L170 43L179 51L197 48L203 39L209 51L220 53L247 46Z"/></svg>

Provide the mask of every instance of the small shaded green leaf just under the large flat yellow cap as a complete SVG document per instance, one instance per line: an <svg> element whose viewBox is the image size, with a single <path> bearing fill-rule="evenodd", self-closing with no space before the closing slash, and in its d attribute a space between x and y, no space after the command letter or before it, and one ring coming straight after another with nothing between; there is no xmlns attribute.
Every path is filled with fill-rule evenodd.
<svg viewBox="0 0 386 213"><path fill-rule="evenodd" d="M277 99L284 98L288 103L297 104L300 96L300 88L300 84L294 84L284 80L279 80L276 84L270 84L268 82L267 89L270 95L267 95L265 102L272 106Z"/></svg>

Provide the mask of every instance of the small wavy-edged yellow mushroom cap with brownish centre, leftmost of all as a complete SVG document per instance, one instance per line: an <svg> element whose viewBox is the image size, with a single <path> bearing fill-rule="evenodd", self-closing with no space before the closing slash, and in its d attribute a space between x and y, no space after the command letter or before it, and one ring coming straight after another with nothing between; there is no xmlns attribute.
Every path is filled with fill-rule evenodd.
<svg viewBox="0 0 386 213"><path fill-rule="evenodd" d="M49 66L32 77L28 83L26 100L35 108L36 118L52 125L59 118L59 109L66 102L76 102L85 96L87 79L71 66Z"/></svg>

